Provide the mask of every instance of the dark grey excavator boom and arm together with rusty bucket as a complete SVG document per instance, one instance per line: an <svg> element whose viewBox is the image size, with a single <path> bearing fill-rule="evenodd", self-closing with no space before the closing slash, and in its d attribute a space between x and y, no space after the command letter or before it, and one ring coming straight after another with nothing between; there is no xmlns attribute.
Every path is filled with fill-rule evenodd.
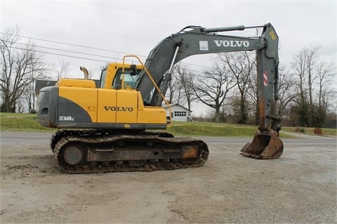
<svg viewBox="0 0 337 224"><path fill-rule="evenodd" d="M171 81L173 65L184 58L206 53L256 51L260 124L253 142L247 143L242 148L242 154L257 159L276 159L283 151L283 143L278 138L280 119L277 116L279 38L270 23L261 27L263 27L263 32L260 37L234 37L218 34L218 32L256 27L237 26L211 29L185 27L155 46L147 57L145 67L157 86L160 86L161 93L165 95ZM140 91L146 105L161 105L163 100L161 94L154 89L152 81L144 71L140 72L135 88ZM274 100L272 99L273 93ZM273 114L271 112L272 103L275 105ZM272 121L271 125L270 121Z"/></svg>

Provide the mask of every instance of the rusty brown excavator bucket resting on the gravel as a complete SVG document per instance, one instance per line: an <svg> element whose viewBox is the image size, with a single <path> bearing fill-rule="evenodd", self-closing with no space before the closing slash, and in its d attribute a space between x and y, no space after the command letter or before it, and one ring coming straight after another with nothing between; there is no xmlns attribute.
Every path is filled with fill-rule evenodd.
<svg viewBox="0 0 337 224"><path fill-rule="evenodd" d="M277 159L283 152L283 143L277 132L269 129L266 133L257 131L253 141L242 147L240 154L255 159Z"/></svg>

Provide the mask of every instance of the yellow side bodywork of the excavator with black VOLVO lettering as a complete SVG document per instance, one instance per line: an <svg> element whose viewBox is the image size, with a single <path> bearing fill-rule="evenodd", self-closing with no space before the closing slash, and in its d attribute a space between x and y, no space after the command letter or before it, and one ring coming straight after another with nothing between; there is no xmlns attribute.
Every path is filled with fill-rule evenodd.
<svg viewBox="0 0 337 224"><path fill-rule="evenodd" d="M125 123L125 127L128 124L166 125L166 111L161 107L145 107L140 93L132 89L59 86L59 96L86 110L91 122Z"/></svg>

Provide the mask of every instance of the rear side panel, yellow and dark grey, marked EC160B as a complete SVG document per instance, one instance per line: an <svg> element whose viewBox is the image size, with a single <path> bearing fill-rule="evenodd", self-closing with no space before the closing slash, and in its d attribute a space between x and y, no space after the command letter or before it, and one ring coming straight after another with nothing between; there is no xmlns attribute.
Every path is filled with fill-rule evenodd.
<svg viewBox="0 0 337 224"><path fill-rule="evenodd" d="M58 124L96 122L97 88L59 87Z"/></svg>

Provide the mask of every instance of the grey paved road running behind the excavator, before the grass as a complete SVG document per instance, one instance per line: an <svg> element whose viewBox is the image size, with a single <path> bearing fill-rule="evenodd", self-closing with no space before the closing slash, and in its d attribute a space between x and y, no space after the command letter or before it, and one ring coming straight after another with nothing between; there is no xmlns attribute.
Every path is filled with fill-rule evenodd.
<svg viewBox="0 0 337 224"><path fill-rule="evenodd" d="M53 133L40 132L0 132L0 146L2 145L49 145ZM284 148L291 146L337 146L337 138L324 138L319 136L305 136L297 134L299 138L284 138ZM302 137L302 138L301 138ZM253 140L251 138L232 138L232 137L195 137L204 140L208 145L244 145Z"/></svg>

